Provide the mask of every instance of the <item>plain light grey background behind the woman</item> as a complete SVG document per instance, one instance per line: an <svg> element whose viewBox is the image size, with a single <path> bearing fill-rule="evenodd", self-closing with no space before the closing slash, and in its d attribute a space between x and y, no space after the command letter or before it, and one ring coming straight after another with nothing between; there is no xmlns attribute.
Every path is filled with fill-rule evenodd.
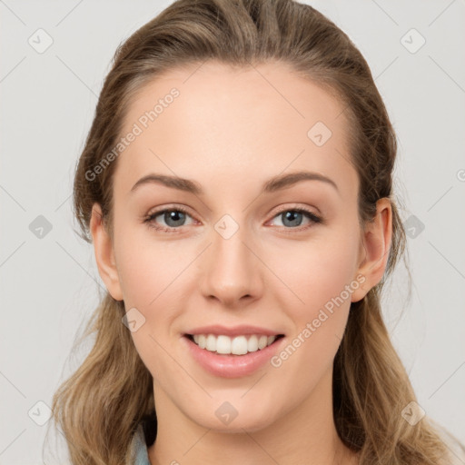
<svg viewBox="0 0 465 465"><path fill-rule="evenodd" d="M117 45L170 3L0 1L0 464L43 463L45 404L84 359L68 357L103 282L74 233L74 165ZM391 114L413 282L407 302L401 265L383 312L420 406L465 442L465 2L308 3L361 49Z"/></svg>

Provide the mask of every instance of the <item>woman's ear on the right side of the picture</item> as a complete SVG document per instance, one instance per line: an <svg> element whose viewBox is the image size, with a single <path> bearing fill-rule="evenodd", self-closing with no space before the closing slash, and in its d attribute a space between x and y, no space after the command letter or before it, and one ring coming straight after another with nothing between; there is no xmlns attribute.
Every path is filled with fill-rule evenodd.
<svg viewBox="0 0 465 465"><path fill-rule="evenodd" d="M376 215L367 223L361 238L361 253L357 274L365 281L351 294L351 302L358 302L381 282L388 262L392 237L391 201L383 197L376 203ZM360 280L361 282L361 280Z"/></svg>

